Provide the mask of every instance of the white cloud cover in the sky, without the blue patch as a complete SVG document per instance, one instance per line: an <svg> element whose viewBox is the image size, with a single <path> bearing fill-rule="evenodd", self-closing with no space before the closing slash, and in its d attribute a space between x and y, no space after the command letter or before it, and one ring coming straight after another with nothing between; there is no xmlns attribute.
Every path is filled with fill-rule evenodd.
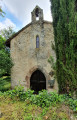
<svg viewBox="0 0 77 120"><path fill-rule="evenodd" d="M36 5L43 9L44 20L52 21L50 0L3 0L3 8L7 8L8 11L21 21L22 27L31 22L31 12ZM0 22L0 24L3 25L6 23L7 25L7 22L16 26L12 20L8 18L5 21L2 21L2 23Z"/></svg>

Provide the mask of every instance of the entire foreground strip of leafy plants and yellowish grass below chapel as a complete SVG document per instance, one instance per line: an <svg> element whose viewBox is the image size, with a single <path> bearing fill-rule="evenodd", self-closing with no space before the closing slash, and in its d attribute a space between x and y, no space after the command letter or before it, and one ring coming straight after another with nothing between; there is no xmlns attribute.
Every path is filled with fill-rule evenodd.
<svg viewBox="0 0 77 120"><path fill-rule="evenodd" d="M77 100L46 90L0 92L0 120L77 120ZM72 119L71 119L72 118Z"/></svg>

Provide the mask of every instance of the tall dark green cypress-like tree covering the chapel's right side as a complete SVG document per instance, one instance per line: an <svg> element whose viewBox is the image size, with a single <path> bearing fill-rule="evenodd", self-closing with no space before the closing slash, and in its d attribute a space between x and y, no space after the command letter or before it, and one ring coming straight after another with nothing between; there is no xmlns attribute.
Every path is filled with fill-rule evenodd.
<svg viewBox="0 0 77 120"><path fill-rule="evenodd" d="M60 93L77 94L77 0L50 0Z"/></svg>

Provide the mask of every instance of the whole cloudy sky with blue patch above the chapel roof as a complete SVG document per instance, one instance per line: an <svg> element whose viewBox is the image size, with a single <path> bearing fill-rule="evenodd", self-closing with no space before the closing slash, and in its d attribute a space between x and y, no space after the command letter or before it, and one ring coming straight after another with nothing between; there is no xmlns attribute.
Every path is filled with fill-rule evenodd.
<svg viewBox="0 0 77 120"><path fill-rule="evenodd" d="M11 26L18 31L26 26L36 5L43 9L44 20L52 21L50 0L0 0L0 5L6 13L0 17L0 30Z"/></svg>

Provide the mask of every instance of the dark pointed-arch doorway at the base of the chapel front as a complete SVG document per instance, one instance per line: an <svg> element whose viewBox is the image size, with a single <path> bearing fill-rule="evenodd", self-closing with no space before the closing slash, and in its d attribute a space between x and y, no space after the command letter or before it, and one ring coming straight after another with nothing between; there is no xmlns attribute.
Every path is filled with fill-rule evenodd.
<svg viewBox="0 0 77 120"><path fill-rule="evenodd" d="M30 88L38 93L42 89L46 89L46 78L40 70L33 72L30 78Z"/></svg>

